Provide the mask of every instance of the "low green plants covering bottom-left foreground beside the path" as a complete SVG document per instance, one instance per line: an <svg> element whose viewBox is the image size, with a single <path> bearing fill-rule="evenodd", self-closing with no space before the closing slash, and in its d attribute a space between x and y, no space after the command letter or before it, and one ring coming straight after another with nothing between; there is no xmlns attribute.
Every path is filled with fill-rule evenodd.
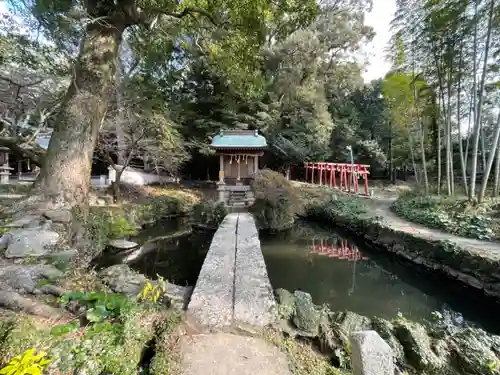
<svg viewBox="0 0 500 375"><path fill-rule="evenodd" d="M36 347L54 359L54 373L137 375L144 348L155 335L156 322L178 322L169 318L168 311L119 294L72 292L64 295L62 302L84 319L53 325L46 319L40 324L36 317L2 316L0 366ZM85 321L85 317L92 321ZM162 348L165 354L166 349Z"/></svg>

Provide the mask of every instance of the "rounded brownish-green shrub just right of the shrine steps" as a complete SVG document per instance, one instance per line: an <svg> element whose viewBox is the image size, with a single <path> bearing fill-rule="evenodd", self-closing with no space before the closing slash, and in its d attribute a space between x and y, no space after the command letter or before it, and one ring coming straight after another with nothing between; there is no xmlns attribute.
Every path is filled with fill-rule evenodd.
<svg viewBox="0 0 500 375"><path fill-rule="evenodd" d="M252 181L255 202L250 208L260 229L290 227L299 209L295 188L282 174L263 169Z"/></svg>

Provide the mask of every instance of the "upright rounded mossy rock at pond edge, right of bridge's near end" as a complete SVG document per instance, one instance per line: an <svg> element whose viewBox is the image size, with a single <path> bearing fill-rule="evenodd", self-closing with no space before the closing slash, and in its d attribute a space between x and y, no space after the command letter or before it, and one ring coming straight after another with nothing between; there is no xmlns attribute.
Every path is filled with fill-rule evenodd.
<svg viewBox="0 0 500 375"><path fill-rule="evenodd" d="M292 319L293 323L304 336L318 336L321 311L316 308L309 293L297 290L294 296L295 314Z"/></svg>

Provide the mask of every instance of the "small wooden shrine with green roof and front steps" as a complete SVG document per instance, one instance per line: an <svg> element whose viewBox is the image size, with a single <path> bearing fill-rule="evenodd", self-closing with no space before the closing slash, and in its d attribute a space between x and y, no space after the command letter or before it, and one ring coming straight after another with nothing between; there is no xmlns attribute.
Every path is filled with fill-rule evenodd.
<svg viewBox="0 0 500 375"><path fill-rule="evenodd" d="M259 170L266 138L257 130L221 130L212 137L210 147L219 157L219 201L229 206L251 204L250 182Z"/></svg>

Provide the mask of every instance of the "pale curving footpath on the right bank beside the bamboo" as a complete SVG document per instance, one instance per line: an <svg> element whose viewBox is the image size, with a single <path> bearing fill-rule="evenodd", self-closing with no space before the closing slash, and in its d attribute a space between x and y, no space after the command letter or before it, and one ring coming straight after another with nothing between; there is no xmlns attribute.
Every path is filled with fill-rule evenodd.
<svg viewBox="0 0 500 375"><path fill-rule="evenodd" d="M391 211L391 204L396 198L373 197L370 199L373 208L373 214L382 216L384 221L394 230L412 234L416 237L434 240L451 241L459 247L470 251L479 256L489 259L500 260L500 243L491 241L482 241L472 238L459 237L453 234L445 233L437 229L426 228L423 225L415 224L400 218Z"/></svg>

